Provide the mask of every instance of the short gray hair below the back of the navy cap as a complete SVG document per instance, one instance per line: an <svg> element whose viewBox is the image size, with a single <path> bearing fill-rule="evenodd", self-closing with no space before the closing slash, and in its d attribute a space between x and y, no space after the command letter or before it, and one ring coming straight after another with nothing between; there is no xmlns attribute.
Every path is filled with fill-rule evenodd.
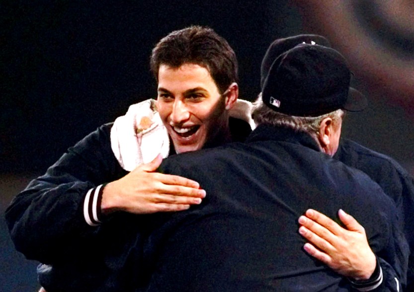
<svg viewBox="0 0 414 292"><path fill-rule="evenodd" d="M338 109L328 114L318 117L297 117L278 113L267 105L261 99L261 92L253 102L253 111L251 114L256 125L270 125L284 128L290 128L297 132L305 132L311 135L318 142L319 127L325 118L331 118L333 123L340 123L344 116L344 111ZM319 144L319 142L318 142Z"/></svg>

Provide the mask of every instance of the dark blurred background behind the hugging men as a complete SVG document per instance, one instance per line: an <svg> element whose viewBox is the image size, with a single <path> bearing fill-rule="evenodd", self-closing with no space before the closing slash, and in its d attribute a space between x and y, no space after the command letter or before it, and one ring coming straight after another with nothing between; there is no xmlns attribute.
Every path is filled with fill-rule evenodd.
<svg viewBox="0 0 414 292"><path fill-rule="evenodd" d="M411 0L28 1L0 3L0 211L28 181L130 104L156 96L153 46L207 25L228 40L240 96L253 100L276 38L326 36L349 61L370 108L343 134L414 173L414 2ZM1 291L35 291L36 263L14 251L0 219Z"/></svg>

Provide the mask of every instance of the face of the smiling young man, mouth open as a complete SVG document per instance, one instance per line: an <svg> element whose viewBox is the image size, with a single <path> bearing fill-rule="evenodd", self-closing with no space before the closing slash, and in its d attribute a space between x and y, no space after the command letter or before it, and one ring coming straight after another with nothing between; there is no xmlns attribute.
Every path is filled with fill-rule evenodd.
<svg viewBox="0 0 414 292"><path fill-rule="evenodd" d="M227 100L206 68L160 66L158 111L177 153L220 139L220 133L228 129Z"/></svg>

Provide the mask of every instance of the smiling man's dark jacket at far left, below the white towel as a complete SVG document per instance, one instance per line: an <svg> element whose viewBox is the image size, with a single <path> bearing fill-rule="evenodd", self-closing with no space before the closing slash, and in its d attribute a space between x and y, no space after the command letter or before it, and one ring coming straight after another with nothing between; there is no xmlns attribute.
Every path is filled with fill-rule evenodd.
<svg viewBox="0 0 414 292"><path fill-rule="evenodd" d="M31 181L5 212L16 249L28 259L53 264L53 269L46 265L38 268L39 282L48 292L123 289L112 279L122 283L118 271L126 266L124 259L111 258L110 251L116 242L128 243L123 238L126 226L112 227L114 220L108 220L93 227L83 217L89 189L127 174L112 153L111 127L102 125L69 148L43 176ZM109 237L106 230L112 232Z"/></svg>

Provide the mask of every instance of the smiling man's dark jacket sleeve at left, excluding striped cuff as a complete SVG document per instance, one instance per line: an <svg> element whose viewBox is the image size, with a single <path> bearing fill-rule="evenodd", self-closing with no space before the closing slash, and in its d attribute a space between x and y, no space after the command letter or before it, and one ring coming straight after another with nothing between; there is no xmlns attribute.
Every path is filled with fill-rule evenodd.
<svg viewBox="0 0 414 292"><path fill-rule="evenodd" d="M85 221L86 194L126 174L112 154L109 131L103 125L69 148L6 209L11 239L26 258L50 263L94 244L99 227Z"/></svg>

